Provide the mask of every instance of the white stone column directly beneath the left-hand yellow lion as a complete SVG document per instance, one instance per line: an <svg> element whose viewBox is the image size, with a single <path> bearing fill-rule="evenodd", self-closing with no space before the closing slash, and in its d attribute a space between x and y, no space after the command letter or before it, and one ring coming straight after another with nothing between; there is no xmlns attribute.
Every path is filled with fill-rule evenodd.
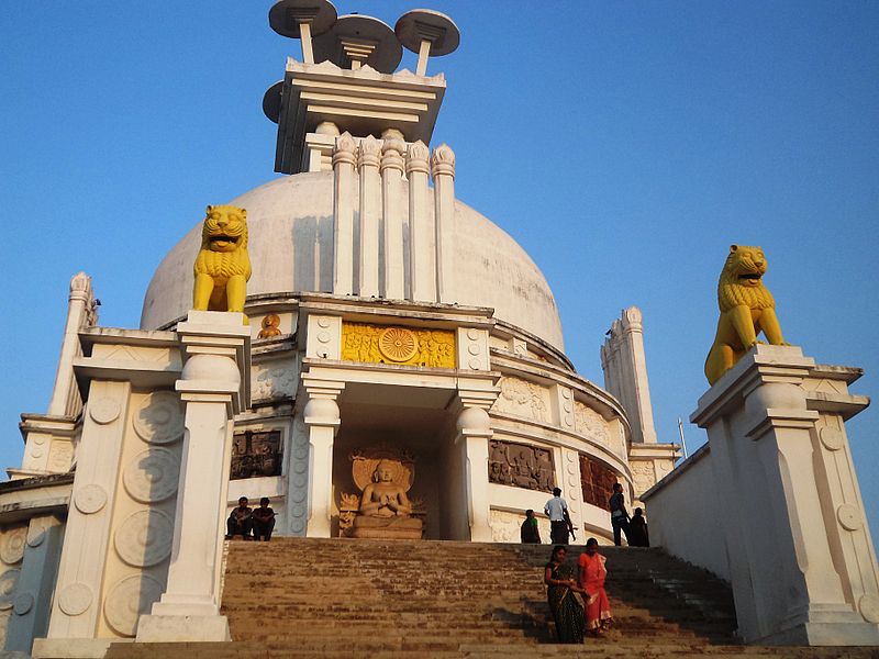
<svg viewBox="0 0 879 659"><path fill-rule="evenodd" d="M190 311L177 326L186 403L171 562L137 641L230 640L220 578L233 416L249 404L249 327L240 313Z"/></svg>

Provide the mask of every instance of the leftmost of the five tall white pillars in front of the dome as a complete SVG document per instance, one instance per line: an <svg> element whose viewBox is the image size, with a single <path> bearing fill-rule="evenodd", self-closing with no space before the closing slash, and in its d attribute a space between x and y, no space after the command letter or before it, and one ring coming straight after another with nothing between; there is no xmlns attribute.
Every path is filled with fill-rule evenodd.
<svg viewBox="0 0 879 659"><path fill-rule="evenodd" d="M333 292L354 293L354 164L349 133L336 137L333 150Z"/></svg>

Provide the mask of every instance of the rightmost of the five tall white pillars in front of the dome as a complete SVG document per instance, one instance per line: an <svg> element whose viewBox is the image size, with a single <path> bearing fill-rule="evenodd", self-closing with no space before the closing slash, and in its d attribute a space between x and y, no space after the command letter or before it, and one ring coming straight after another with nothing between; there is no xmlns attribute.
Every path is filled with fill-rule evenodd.
<svg viewBox="0 0 879 659"><path fill-rule="evenodd" d="M434 220L436 224L436 295L455 302L455 154L446 144L433 152Z"/></svg>

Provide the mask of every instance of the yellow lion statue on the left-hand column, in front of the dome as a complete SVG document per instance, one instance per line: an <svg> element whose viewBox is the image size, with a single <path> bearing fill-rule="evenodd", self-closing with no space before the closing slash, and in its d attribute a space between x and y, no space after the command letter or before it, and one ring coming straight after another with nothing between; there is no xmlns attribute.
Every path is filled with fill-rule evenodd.
<svg viewBox="0 0 879 659"><path fill-rule="evenodd" d="M209 205L201 230L201 248L192 268L192 309L244 313L251 257L247 255L247 211ZM244 316L244 324L249 324Z"/></svg>

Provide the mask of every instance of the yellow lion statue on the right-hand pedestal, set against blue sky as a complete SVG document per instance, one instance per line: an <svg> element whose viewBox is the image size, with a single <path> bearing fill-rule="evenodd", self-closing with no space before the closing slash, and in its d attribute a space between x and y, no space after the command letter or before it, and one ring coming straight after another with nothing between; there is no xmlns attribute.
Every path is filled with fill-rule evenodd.
<svg viewBox="0 0 879 659"><path fill-rule="evenodd" d="M763 284L766 257L759 247L731 245L717 282L721 317L714 345L705 359L705 377L714 384L757 344L763 331L769 343L786 346L776 316L776 301Z"/></svg>

